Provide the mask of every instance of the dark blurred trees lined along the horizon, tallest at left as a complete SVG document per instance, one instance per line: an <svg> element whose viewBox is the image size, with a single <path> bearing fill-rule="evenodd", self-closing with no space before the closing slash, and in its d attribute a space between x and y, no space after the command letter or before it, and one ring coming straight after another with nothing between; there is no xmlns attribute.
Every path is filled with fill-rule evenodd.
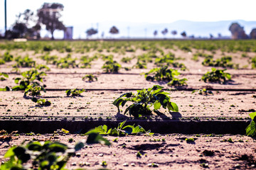
<svg viewBox="0 0 256 170"><path fill-rule="evenodd" d="M51 34L51 39L54 40L53 33L55 30L63 30L65 31L65 25L61 18L61 11L63 11L63 4L59 3L44 3L41 8L38 8L36 13L31 11L30 9L26 9L23 13L19 13L16 16L16 21L11 27L11 29L6 30L5 38L13 39L13 38L36 38L40 39L40 31L44 26L46 30L48 30ZM256 28L253 28L250 35L246 35L245 30L239 23L232 23L229 28L233 39L256 39ZM95 28L89 28L85 31L87 38L98 33L98 30ZM109 33L112 35L118 34L119 30L116 26L112 26L110 28ZM161 30L161 34L166 38L166 34L169 33L167 28ZM170 33L176 36L178 33L176 30L171 30ZM158 35L158 30L154 30L154 37ZM102 33L102 37L104 33ZM181 32L181 36L183 38L187 37L185 31ZM220 34L218 35L220 38ZM189 38L194 38L193 35L189 36ZM210 39L213 38L213 35L210 34Z"/></svg>

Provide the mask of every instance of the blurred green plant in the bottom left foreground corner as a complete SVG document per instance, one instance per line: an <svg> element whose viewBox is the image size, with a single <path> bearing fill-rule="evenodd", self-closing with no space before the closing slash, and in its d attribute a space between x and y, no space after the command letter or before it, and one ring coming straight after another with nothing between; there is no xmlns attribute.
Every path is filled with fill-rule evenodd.
<svg viewBox="0 0 256 170"><path fill-rule="evenodd" d="M65 164L70 157L75 155L85 145L101 143L111 145L108 140L101 137L97 133L88 134L87 140L78 142L74 146L68 147L61 142L24 142L20 146L11 147L5 158L9 161L1 164L0 169L65 169Z"/></svg>

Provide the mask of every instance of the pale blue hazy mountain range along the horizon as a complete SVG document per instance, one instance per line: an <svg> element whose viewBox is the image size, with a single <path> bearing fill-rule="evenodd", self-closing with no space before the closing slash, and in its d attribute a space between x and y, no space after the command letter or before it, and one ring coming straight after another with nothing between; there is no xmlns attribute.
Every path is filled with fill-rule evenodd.
<svg viewBox="0 0 256 170"><path fill-rule="evenodd" d="M180 20L173 23L129 23L112 21L99 23L99 34L92 36L92 38L100 38L102 32L104 32L105 38L127 38L128 35L129 38L154 38L154 30L158 31L157 38L164 38L164 35L161 34L161 31L164 30L164 28L168 29L166 38L174 38L174 35L171 35L171 30L176 30L178 32L175 38L181 38L181 32L183 31L186 31L188 36L194 35L197 38L209 38L210 34L214 37L218 37L218 33L222 36L230 37L231 34L228 28L233 22L238 22L240 26L244 27L245 33L247 34L250 34L252 28L256 28L256 21L243 20L215 22ZM119 34L113 36L109 33L112 26L116 26L119 29ZM73 38L86 38L85 31L90 27L82 25L75 25L73 27Z"/></svg>

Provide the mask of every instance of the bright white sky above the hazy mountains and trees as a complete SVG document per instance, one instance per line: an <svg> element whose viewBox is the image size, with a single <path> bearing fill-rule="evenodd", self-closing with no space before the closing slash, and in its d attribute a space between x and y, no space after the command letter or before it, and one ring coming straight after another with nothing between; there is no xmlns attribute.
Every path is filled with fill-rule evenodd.
<svg viewBox="0 0 256 170"><path fill-rule="evenodd" d="M85 30L97 23L171 23L188 21L256 21L255 0L6 0L7 26L27 8L32 11L44 2L63 4L61 18L65 26L83 26ZM85 34L83 33L77 34ZM0 0L0 33L4 32L4 0ZM83 35L80 35L83 36Z"/></svg>

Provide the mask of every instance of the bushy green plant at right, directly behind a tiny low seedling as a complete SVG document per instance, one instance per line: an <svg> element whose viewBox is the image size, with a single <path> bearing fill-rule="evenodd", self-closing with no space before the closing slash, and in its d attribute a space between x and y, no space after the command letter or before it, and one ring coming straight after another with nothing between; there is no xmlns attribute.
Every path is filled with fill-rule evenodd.
<svg viewBox="0 0 256 170"><path fill-rule="evenodd" d="M217 82L219 84L225 84L227 79L231 79L231 75L229 73L225 73L225 70L226 69L212 68L212 71L204 74L199 81L203 80L205 82Z"/></svg>

